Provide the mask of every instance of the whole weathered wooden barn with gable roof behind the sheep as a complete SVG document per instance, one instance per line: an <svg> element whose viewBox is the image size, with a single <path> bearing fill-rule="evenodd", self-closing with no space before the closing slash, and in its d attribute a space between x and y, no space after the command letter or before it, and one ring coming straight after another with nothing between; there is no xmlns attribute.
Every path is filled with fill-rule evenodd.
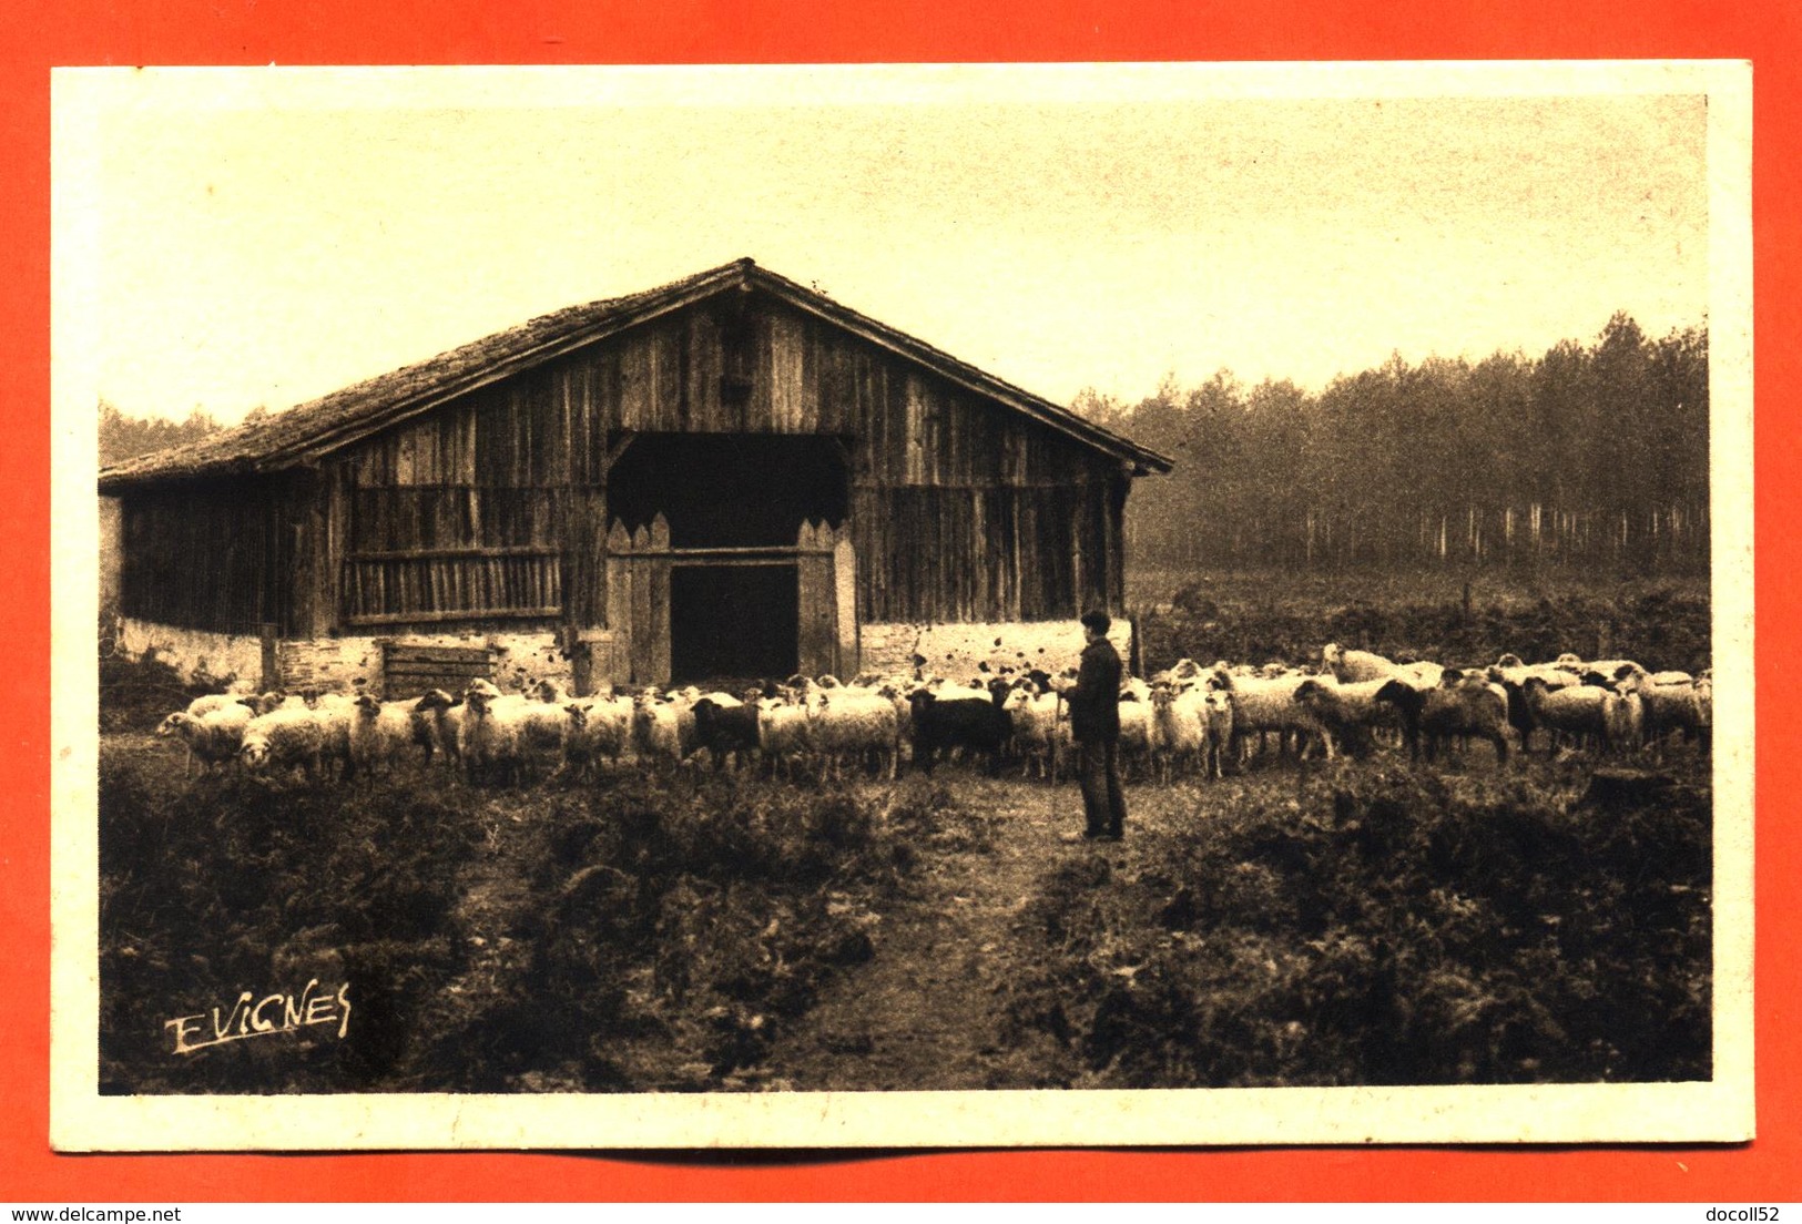
<svg viewBox="0 0 1802 1224"><path fill-rule="evenodd" d="M117 463L99 492L146 649L254 642L265 680L389 692L499 651L587 689L849 674L921 627L1117 611L1132 478L1166 470L739 260Z"/></svg>

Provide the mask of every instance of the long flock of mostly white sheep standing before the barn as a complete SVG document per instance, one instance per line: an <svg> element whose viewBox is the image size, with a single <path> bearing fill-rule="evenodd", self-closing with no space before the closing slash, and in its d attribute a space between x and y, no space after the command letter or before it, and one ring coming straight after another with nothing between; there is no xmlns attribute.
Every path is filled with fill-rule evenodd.
<svg viewBox="0 0 1802 1224"><path fill-rule="evenodd" d="M917 660L923 662L923 660ZM986 665L984 665L986 671ZM407 701L348 694L213 694L169 714L159 735L178 737L189 768L240 766L308 779L378 775L396 764L445 763L470 781L521 784L566 773L593 777L622 763L762 768L820 781L847 770L897 777L941 759L1006 761L1022 777L1058 781L1069 755L1063 696L1074 672L942 678L793 676L744 694L683 689L566 698L553 683L503 694L487 680L463 694L431 690ZM1220 777L1256 743L1267 750L1366 755L1380 743L1411 755L1481 739L1499 761L1510 748L1604 754L1661 748L1672 735L1708 750L1714 698L1708 672L1649 672L1631 660L1571 654L1526 665L1512 654L1485 669L1397 663L1368 651L1324 647L1317 671L1182 660L1121 690L1121 755L1130 772L1169 781Z"/></svg>

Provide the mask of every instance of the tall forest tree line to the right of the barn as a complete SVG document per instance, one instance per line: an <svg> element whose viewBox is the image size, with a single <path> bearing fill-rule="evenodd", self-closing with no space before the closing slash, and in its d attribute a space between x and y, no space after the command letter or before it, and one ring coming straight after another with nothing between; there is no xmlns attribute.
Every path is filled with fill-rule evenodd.
<svg viewBox="0 0 1802 1224"><path fill-rule="evenodd" d="M1137 566L1708 568L1706 326L1074 407L1177 461L1133 483Z"/></svg>

